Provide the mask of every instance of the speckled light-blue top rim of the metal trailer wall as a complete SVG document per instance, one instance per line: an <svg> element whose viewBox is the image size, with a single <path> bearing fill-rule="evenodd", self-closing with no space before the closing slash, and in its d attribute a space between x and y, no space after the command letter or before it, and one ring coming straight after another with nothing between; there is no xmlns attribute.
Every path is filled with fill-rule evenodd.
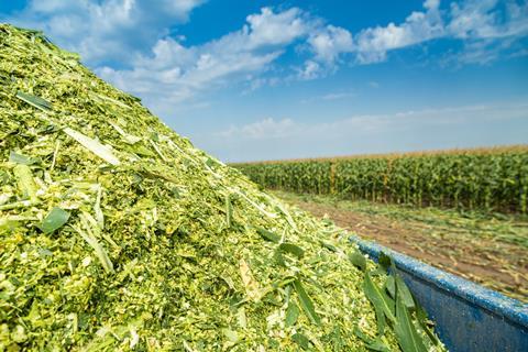
<svg viewBox="0 0 528 352"><path fill-rule="evenodd" d="M383 252L389 255L398 270L409 273L429 284L470 301L497 317L528 329L528 305L506 297L497 292L466 280L453 274L432 267L408 255L395 252L374 242L369 242L352 235L350 241L356 243L363 253L377 261Z"/></svg>

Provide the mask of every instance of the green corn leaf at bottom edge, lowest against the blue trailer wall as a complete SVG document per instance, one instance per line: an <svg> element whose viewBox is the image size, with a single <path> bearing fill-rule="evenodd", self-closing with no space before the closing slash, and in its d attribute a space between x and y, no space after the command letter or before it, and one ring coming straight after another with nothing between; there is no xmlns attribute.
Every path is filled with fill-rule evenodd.
<svg viewBox="0 0 528 352"><path fill-rule="evenodd" d="M396 323L394 324L394 332L404 352L427 352L422 338L416 330L409 311L400 296L396 299Z"/></svg>

